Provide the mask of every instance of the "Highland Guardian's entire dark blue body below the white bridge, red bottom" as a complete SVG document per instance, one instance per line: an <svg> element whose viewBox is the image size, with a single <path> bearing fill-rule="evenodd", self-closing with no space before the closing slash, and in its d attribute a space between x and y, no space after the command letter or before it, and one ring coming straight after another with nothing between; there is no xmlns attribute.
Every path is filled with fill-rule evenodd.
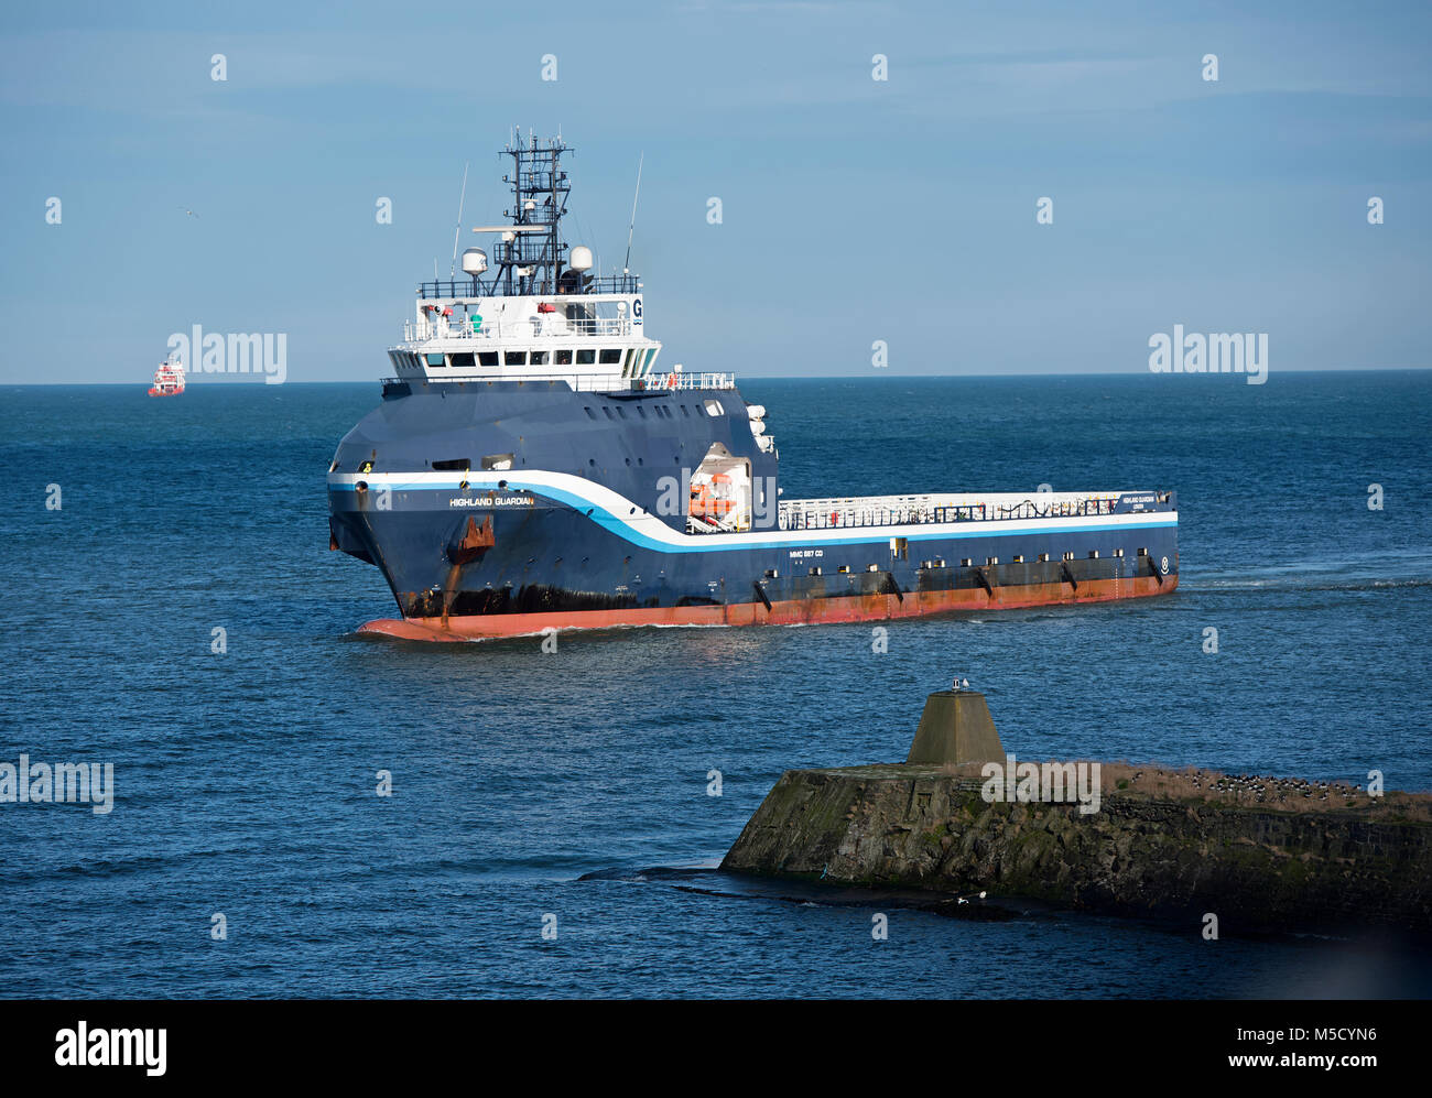
<svg viewBox="0 0 1432 1098"><path fill-rule="evenodd" d="M1130 492L1087 514L1027 501L1022 518L782 510L776 455L750 421L733 389L385 389L328 475L329 547L377 565L398 607L364 631L885 621L1177 587L1171 495ZM683 478L712 448L750 468L748 530L687 530Z"/></svg>

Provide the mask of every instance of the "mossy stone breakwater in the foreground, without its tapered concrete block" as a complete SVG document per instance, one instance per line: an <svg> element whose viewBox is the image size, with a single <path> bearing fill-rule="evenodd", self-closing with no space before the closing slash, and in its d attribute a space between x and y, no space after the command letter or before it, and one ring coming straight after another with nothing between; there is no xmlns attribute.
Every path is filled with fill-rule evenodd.
<svg viewBox="0 0 1432 1098"><path fill-rule="evenodd" d="M1116 764L1103 774L1098 810L1081 813L991 803L978 764L788 770L722 868L1118 915L1213 912L1224 933L1432 933L1432 796Z"/></svg>

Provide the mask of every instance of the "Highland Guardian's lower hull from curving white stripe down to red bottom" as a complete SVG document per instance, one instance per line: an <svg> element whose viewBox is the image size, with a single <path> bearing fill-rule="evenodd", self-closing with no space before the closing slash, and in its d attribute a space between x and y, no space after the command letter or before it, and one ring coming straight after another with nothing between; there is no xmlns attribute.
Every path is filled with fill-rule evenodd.
<svg viewBox="0 0 1432 1098"><path fill-rule="evenodd" d="M884 621L1179 583L1167 511L686 534L564 474L338 475L329 497L334 547L377 564L402 616L362 631L412 640Z"/></svg>

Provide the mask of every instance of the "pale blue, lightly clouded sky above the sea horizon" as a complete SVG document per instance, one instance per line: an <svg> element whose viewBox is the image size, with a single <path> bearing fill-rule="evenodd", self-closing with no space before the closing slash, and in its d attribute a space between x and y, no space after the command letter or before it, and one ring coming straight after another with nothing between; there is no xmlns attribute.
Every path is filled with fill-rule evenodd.
<svg viewBox="0 0 1432 1098"><path fill-rule="evenodd" d="M11 6L0 381L146 382L193 324L374 379L514 125L576 149L606 266L644 153L687 369L1141 372L1174 324L1267 332L1274 376L1426 366L1429 40L1421 3Z"/></svg>

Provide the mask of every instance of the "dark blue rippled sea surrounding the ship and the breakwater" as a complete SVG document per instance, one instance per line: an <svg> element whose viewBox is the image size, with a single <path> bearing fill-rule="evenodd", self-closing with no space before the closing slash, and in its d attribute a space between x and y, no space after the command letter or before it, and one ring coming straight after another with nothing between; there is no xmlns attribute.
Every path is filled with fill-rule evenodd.
<svg viewBox="0 0 1432 1098"><path fill-rule="evenodd" d="M1174 488L1180 588L894 623L886 654L869 626L358 638L394 606L328 551L324 474L377 385L9 388L0 760L113 763L116 800L0 805L0 995L1429 993L1379 938L964 922L715 866L782 770L902 759L955 671L1017 754L1432 789L1432 374L742 391L788 498Z"/></svg>

